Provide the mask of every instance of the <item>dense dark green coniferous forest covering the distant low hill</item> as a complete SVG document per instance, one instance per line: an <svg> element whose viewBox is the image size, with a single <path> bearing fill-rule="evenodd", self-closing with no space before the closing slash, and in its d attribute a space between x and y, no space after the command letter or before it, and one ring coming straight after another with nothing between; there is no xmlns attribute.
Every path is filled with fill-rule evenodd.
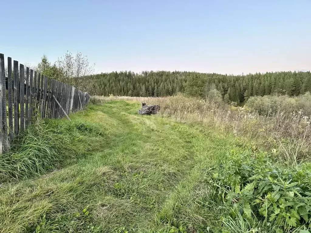
<svg viewBox="0 0 311 233"><path fill-rule="evenodd" d="M131 71L101 73L83 77L86 91L94 95L127 95L162 97L186 93L205 97L210 89L217 89L225 102L240 103L250 96L287 94L296 96L311 92L311 73L267 72L247 75L221 75L181 71Z"/></svg>

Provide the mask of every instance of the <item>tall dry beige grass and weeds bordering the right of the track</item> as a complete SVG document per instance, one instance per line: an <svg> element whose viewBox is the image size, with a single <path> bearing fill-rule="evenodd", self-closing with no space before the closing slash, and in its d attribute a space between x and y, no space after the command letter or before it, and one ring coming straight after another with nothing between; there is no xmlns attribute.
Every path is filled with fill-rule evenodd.
<svg viewBox="0 0 311 233"><path fill-rule="evenodd" d="M160 115L184 123L202 123L224 133L251 139L253 143L274 153L281 161L295 166L311 160L310 116L303 111L275 111L269 116L259 115L250 108L232 107L213 100L186 97L93 96L93 103L123 100L135 103L159 104Z"/></svg>

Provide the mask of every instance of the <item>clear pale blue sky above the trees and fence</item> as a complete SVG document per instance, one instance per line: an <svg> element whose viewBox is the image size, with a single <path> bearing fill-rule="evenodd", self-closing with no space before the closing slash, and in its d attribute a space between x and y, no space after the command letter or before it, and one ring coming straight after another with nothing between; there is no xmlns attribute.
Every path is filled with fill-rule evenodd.
<svg viewBox="0 0 311 233"><path fill-rule="evenodd" d="M1 18L0 53L23 63L69 50L97 72L311 69L311 0L18 0Z"/></svg>

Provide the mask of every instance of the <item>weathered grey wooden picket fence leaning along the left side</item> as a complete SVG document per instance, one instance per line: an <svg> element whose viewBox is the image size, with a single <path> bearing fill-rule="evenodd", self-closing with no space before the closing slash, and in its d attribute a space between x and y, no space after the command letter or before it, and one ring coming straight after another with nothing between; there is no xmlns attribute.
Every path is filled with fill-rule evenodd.
<svg viewBox="0 0 311 233"><path fill-rule="evenodd" d="M89 94L73 86L49 79L18 61L0 53L0 154L10 148L14 136L34 123L37 117L68 117L81 110L90 100Z"/></svg>

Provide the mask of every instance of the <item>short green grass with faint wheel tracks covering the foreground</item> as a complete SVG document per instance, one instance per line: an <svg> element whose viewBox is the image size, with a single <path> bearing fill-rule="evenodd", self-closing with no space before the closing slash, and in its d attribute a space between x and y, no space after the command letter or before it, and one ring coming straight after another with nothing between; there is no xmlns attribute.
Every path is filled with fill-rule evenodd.
<svg viewBox="0 0 311 233"><path fill-rule="evenodd" d="M230 209L211 200L211 169L232 150L251 152L248 145L198 124L140 116L136 110L135 103L113 101L71 115L72 123L44 123L54 131L47 136L40 131L43 144L49 151L59 144L52 157L40 152L30 159L31 169L21 173L10 157L13 168L0 166L3 181L18 179L0 188L0 232L245 232L258 227L262 231L249 232L272 232L259 220L226 221ZM91 127L79 129L81 122ZM69 135L68 141L51 138L56 129ZM31 132L27 135L35 135ZM232 225L238 225L234 231Z"/></svg>

